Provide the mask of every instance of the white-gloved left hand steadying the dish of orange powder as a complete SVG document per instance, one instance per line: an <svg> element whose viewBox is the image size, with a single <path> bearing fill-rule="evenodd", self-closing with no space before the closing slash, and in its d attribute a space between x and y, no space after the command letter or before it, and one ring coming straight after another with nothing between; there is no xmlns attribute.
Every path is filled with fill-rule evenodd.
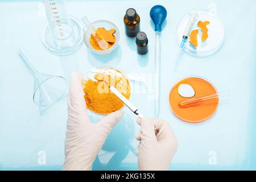
<svg viewBox="0 0 256 182"><path fill-rule="evenodd" d="M86 112L82 74L71 73L68 93L68 121L63 170L90 170L105 139L123 117L115 111L97 123L92 123Z"/></svg>

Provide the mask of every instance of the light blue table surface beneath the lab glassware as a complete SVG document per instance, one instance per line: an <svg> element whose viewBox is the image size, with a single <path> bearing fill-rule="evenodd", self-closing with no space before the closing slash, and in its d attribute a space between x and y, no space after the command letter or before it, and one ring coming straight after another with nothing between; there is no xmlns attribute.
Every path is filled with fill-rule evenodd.
<svg viewBox="0 0 256 182"><path fill-rule="evenodd" d="M211 2L216 3L217 15L225 24L224 46L208 57L184 54L174 73L177 23L193 7L208 9ZM256 169L255 0L67 1L69 13L77 18L86 14L92 21L107 19L118 26L119 46L108 56L94 55L85 44L72 55L53 55L40 38L47 24L42 2L1 1L0 169L61 169L64 162L67 101L40 116L32 101L33 78L20 61L18 49L23 50L38 71L67 79L72 71L85 74L104 64L125 73L150 76L154 73L155 40L149 11L156 4L168 11L162 32L160 118L170 122L179 141L170 169ZM149 40L147 56L138 56L134 39L125 35L122 18L129 7L134 7L141 16L141 30ZM212 118L196 125L181 122L168 104L172 85L191 75L207 78L220 92L232 93L220 102ZM150 78L147 81L154 88ZM142 113L152 115L150 94L133 92L131 102ZM125 118L113 130L93 169L137 169L134 148L138 142L134 134L139 127L135 115L126 108L123 110ZM90 117L100 118L92 113ZM46 154L46 164L38 163L41 151ZM209 162L213 157L216 164Z"/></svg>

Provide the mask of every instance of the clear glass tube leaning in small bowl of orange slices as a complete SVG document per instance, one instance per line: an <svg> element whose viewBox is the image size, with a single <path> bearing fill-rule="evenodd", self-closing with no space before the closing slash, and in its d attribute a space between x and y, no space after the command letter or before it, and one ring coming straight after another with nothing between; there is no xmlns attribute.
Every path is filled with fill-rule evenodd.
<svg viewBox="0 0 256 182"><path fill-rule="evenodd" d="M82 20L82 23L84 23L85 27L89 28L89 31L94 36L94 38L96 39L96 41L98 43L98 46L100 46L100 48L102 50L106 50L109 47L109 44L106 42L106 40L104 40L102 38L100 39L98 37L98 35L96 34L96 30L93 27L92 23L90 23L89 19L86 16L84 16L84 17L81 18L81 20Z"/></svg>

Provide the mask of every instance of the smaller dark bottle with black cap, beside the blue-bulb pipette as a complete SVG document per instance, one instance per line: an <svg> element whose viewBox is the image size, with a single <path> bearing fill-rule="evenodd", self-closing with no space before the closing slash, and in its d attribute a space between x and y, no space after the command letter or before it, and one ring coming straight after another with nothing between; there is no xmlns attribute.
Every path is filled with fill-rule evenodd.
<svg viewBox="0 0 256 182"><path fill-rule="evenodd" d="M144 55L148 52L147 35L145 32L138 32L136 36L137 52L139 55Z"/></svg>

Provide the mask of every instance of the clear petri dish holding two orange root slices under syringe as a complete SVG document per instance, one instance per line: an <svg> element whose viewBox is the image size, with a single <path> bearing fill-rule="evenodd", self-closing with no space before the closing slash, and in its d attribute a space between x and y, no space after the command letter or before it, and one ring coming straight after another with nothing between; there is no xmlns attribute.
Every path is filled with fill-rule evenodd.
<svg viewBox="0 0 256 182"><path fill-rule="evenodd" d="M187 23L189 20L190 15L186 14L181 18L179 24L177 25L177 42L180 44L181 39L184 34L184 30L187 27ZM201 29L197 27L197 23L201 20L201 22L209 21L210 24L207 25L208 28L208 38L204 42L201 41ZM225 27L222 23L221 19L218 18L217 15L211 13L210 11L206 10L199 10L197 11L197 18L195 23L193 24L192 30L198 29L199 34L197 35L198 46L195 48L191 46L189 43L189 36L188 42L185 44L184 51L189 53L193 56L210 56L216 53L221 49L224 44L225 38Z"/></svg>

